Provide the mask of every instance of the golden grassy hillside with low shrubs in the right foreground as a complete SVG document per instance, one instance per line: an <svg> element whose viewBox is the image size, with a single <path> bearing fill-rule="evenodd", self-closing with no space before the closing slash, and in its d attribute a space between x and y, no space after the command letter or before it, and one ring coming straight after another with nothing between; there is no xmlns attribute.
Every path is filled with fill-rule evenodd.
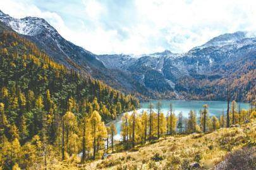
<svg viewBox="0 0 256 170"><path fill-rule="evenodd" d="M226 159L229 152L246 146L255 150L255 132L256 119L240 127L221 128L207 134L168 136L154 144L147 143L133 151L90 162L85 169L188 169L193 162L210 169ZM255 152L252 157L255 164Z"/></svg>

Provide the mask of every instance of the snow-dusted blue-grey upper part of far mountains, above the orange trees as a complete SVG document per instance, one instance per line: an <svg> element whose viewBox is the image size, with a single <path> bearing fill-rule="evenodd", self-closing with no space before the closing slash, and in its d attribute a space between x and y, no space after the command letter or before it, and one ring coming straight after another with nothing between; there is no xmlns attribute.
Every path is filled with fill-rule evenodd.
<svg viewBox="0 0 256 170"><path fill-rule="evenodd" d="M164 51L137 58L130 55L100 55L98 59L107 68L130 72L134 79L150 89L176 91L181 77L224 77L228 72L221 70L226 69L226 64L240 60L253 62L255 52L256 38L247 38L245 32L238 31L212 38L184 54Z"/></svg>

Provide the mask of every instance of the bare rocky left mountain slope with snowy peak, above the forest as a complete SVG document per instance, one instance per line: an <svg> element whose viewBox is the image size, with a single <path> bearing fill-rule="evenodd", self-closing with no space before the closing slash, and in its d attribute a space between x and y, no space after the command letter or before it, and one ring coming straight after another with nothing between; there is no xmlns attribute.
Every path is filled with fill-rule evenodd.
<svg viewBox="0 0 256 170"><path fill-rule="evenodd" d="M42 18L15 19L0 11L0 21L23 37L30 39L56 62L106 82L109 86L137 96L154 96L127 72L107 69L97 55L65 40L58 31Z"/></svg>

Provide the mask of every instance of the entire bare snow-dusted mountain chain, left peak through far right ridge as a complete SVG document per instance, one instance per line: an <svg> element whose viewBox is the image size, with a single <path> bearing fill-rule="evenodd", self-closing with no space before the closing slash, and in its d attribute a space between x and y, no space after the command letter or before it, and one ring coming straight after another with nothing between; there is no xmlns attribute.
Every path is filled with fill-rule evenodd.
<svg viewBox="0 0 256 170"><path fill-rule="evenodd" d="M221 80L230 74L239 78L250 72L256 79L256 38L249 38L242 31L212 38L184 54L165 50L143 55L95 55L65 40L42 18L15 19L0 11L0 21L30 39L54 60L127 93L179 99L200 94L198 98L204 99L202 96L211 95L208 94L211 87L205 89L208 81L220 88ZM200 84L190 86L195 82ZM242 94L248 89L240 91L236 98L245 99ZM223 98L224 94L216 94L216 99Z"/></svg>

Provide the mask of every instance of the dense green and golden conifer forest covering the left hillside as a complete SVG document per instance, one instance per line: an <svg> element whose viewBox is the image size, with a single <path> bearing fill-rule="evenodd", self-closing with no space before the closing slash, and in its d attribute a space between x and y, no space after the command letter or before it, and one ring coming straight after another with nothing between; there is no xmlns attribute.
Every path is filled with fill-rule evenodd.
<svg viewBox="0 0 256 170"><path fill-rule="evenodd" d="M3 25L0 40L0 169L40 169L49 156L85 155L85 146L95 157L104 147L104 122L139 105L57 64Z"/></svg>

